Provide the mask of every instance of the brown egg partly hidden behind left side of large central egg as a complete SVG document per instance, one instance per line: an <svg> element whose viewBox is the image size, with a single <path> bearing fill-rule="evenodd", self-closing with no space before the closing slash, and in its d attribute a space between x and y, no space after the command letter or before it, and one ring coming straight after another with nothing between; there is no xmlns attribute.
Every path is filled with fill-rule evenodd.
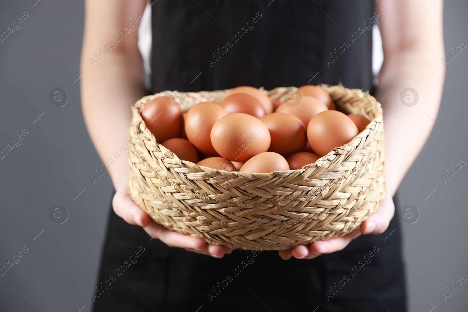
<svg viewBox="0 0 468 312"><path fill-rule="evenodd" d="M214 102L202 102L192 106L185 119L185 133L190 143L198 151L209 156L217 156L211 144L210 131L213 124L227 112Z"/></svg>

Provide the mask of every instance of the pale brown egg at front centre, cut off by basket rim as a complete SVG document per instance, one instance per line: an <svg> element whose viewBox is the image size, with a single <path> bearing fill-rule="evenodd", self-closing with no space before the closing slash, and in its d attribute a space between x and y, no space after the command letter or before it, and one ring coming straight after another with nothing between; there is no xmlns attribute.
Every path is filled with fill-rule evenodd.
<svg viewBox="0 0 468 312"><path fill-rule="evenodd" d="M247 160L240 172L270 173L289 170L288 162L275 152L263 152Z"/></svg>

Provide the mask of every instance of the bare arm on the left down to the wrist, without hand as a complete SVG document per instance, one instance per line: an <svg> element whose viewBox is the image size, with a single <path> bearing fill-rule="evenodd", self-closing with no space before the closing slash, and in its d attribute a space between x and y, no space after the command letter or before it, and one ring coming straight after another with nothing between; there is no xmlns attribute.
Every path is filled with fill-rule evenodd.
<svg viewBox="0 0 468 312"><path fill-rule="evenodd" d="M132 28L139 26L134 18L139 21L145 6L146 0L86 1L81 106L88 134L104 164L127 143L130 107L145 95L138 28L129 27L130 23ZM128 33L125 27L130 29ZM115 189L128 177L127 155L108 169Z"/></svg>

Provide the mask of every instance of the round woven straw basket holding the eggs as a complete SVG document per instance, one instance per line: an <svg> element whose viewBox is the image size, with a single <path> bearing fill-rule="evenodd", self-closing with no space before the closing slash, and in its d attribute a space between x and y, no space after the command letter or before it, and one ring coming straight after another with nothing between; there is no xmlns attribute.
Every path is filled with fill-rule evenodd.
<svg viewBox="0 0 468 312"><path fill-rule="evenodd" d="M129 130L132 199L170 230L246 250L288 249L351 232L385 195L382 109L359 89L320 87L338 108L371 123L350 143L303 169L258 174L179 160L156 142L139 114L147 102L167 93L143 97L132 107ZM288 90L296 88L262 89L272 100ZM220 103L228 91L188 92L178 101L187 111L199 102Z"/></svg>

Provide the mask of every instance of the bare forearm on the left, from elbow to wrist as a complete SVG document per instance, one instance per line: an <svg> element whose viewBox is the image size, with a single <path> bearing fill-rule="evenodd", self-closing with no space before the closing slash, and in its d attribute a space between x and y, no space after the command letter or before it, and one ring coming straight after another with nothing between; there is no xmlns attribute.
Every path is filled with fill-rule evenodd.
<svg viewBox="0 0 468 312"><path fill-rule="evenodd" d="M85 72L80 78L83 117L91 141L117 188L128 176L125 144L132 120L130 107L145 95L144 76L139 60L129 52L111 51L94 67L87 52L83 49L81 60L81 72ZM139 53L135 56L139 57Z"/></svg>

